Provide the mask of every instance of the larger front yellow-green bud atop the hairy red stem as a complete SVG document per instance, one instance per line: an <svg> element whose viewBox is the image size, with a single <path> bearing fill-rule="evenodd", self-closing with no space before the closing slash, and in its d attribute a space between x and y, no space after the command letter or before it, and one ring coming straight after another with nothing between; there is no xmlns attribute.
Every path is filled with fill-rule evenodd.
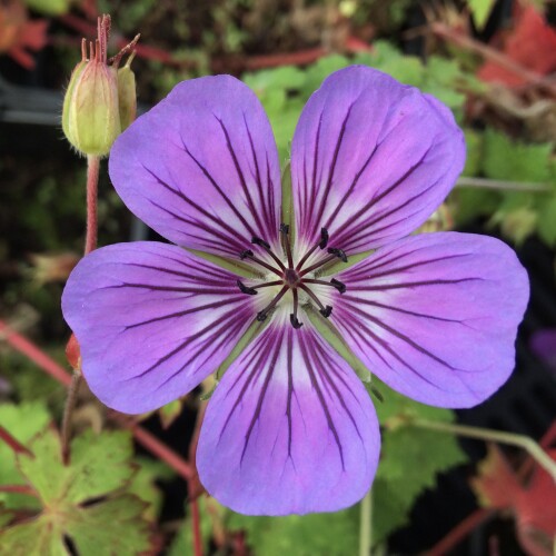
<svg viewBox="0 0 556 556"><path fill-rule="evenodd" d="M120 133L117 70L106 63L106 51L97 41L96 52L85 57L71 75L63 100L62 129L69 142L83 155L103 157Z"/></svg>

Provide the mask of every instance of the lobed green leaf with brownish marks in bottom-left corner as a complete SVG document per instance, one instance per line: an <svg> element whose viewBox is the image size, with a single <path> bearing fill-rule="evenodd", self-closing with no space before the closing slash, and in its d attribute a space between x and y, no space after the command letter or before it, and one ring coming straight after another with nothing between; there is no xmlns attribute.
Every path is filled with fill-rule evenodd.
<svg viewBox="0 0 556 556"><path fill-rule="evenodd" d="M0 530L0 544L13 554L67 555L73 545L83 556L136 555L151 547L148 503L137 492L148 483L131 460L128 431L91 430L71 443L71 461L63 465L58 433L47 428L28 443L33 454L18 455L17 465L37 493L42 512L32 520ZM152 493L147 493L152 499ZM69 540L68 540L69 539Z"/></svg>

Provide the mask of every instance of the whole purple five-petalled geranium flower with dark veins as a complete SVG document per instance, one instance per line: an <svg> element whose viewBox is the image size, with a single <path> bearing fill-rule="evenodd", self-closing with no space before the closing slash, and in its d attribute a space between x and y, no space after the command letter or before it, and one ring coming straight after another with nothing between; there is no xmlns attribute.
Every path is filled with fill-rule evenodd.
<svg viewBox="0 0 556 556"><path fill-rule="evenodd" d="M324 324L369 371L436 406L478 404L514 367L528 297L514 252L483 236L408 237L464 159L439 101L379 71L344 69L300 117L285 224L290 199L282 206L256 96L228 76L178 85L118 138L109 168L130 210L176 245L98 249L63 294L92 391L120 411L158 408L255 330L209 401L201 483L246 514L356 503L375 475L379 428Z"/></svg>

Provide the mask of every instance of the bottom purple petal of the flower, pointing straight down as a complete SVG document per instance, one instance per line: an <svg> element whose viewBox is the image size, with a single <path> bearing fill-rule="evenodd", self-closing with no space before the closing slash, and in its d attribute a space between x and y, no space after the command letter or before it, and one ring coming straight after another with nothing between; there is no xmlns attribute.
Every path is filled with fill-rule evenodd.
<svg viewBox="0 0 556 556"><path fill-rule="evenodd" d="M310 322L279 317L232 364L207 408L199 477L249 515L334 512L370 488L380 446L369 395Z"/></svg>

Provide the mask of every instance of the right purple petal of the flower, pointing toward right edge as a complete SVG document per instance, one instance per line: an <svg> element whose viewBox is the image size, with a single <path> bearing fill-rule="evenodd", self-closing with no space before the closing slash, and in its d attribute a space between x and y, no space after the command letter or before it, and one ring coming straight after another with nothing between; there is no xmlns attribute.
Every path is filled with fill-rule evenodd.
<svg viewBox="0 0 556 556"><path fill-rule="evenodd" d="M497 239L426 234L378 249L337 277L332 319L368 369L441 407L474 406L514 369L527 274Z"/></svg>

